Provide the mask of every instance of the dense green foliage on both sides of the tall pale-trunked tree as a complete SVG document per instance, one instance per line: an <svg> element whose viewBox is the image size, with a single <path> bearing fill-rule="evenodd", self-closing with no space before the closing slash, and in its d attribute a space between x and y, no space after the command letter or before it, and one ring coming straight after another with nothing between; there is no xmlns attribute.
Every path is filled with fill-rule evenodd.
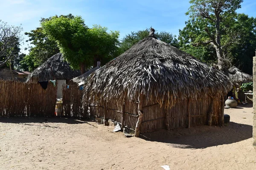
<svg viewBox="0 0 256 170"><path fill-rule="evenodd" d="M228 21L225 23L226 31L222 30L225 34L221 36L221 43L226 47L222 49L225 49L225 54L229 56L230 65L235 65L247 74L251 74L252 57L255 55L256 47L256 18L248 17L246 14L237 14ZM203 43L209 39L207 32L204 31L202 20L187 21L185 28L180 30L178 39L183 51L209 64L218 64L215 48L209 43Z"/></svg>

